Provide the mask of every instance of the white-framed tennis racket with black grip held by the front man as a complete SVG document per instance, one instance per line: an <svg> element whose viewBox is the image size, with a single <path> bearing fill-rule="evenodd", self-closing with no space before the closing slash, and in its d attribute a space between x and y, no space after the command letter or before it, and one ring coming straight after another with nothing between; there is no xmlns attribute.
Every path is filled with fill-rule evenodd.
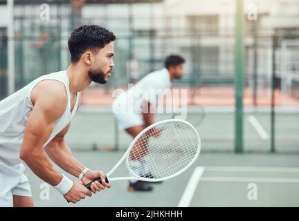
<svg viewBox="0 0 299 221"><path fill-rule="evenodd" d="M182 119L156 122L139 133L118 163L106 174L106 182L118 180L143 180L158 182L168 180L187 170L199 156L201 140L197 130ZM136 162L146 162L136 168ZM111 177L125 161L131 177ZM149 171L152 175L147 176ZM95 180L96 181L96 180ZM102 183L100 179L97 180ZM91 190L91 183L85 185Z"/></svg>

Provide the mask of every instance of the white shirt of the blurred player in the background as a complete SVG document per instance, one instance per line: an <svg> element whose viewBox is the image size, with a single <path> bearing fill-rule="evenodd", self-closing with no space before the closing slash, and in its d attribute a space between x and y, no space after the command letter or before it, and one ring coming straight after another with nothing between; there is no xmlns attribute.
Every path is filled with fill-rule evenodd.
<svg viewBox="0 0 299 221"><path fill-rule="evenodd" d="M170 75L166 68L149 73L137 84L120 94L112 109L115 114L141 114L143 101L156 108L158 102L168 93L171 87Z"/></svg>

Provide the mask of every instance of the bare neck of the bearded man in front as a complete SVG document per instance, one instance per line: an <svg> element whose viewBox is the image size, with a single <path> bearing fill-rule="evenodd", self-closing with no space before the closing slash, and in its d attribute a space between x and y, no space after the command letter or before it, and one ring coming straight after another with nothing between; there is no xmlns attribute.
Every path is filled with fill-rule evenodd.
<svg viewBox="0 0 299 221"><path fill-rule="evenodd" d="M91 79L86 72L87 70L75 64L70 64L69 68L66 69L66 75L69 77L70 91L73 95L91 84Z"/></svg>

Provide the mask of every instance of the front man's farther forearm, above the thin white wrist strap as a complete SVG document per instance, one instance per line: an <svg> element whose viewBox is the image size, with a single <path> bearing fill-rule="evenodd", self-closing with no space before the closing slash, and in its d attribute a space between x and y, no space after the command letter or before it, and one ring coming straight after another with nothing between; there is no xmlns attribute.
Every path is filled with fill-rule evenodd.
<svg viewBox="0 0 299 221"><path fill-rule="evenodd" d="M51 142L46 146L45 151L55 164L75 177L79 177L85 168L85 166L75 159L65 140Z"/></svg>

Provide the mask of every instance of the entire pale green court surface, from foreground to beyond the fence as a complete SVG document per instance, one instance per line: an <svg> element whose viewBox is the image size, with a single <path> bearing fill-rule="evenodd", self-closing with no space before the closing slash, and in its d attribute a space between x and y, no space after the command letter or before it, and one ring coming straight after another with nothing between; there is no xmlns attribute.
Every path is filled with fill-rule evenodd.
<svg viewBox="0 0 299 221"><path fill-rule="evenodd" d="M190 108L188 121L195 124L199 115L197 108ZM156 121L171 117L157 114ZM129 192L127 181L118 181L92 198L68 204L27 169L35 206L298 206L298 112L275 113L276 153L270 153L269 110L245 110L243 118L244 153L237 154L233 110L206 108L196 126L201 137L199 159L178 177L153 184L150 193ZM109 108L83 109L75 116L66 140L84 166L107 173L118 162L132 138L115 123ZM127 175L123 164L112 177Z"/></svg>

